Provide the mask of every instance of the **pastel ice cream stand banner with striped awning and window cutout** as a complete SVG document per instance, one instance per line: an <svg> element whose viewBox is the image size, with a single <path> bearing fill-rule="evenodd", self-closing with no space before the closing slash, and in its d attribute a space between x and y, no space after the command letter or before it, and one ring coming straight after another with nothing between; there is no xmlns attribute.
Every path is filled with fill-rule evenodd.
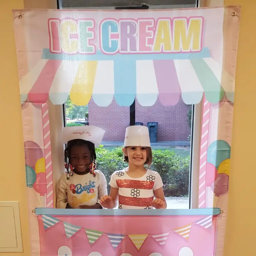
<svg viewBox="0 0 256 256"><path fill-rule="evenodd" d="M14 10L13 17L31 256L222 256L240 8ZM196 208L56 209L63 141L54 105L68 97L77 106L130 106L135 98L142 106L200 104Z"/></svg>

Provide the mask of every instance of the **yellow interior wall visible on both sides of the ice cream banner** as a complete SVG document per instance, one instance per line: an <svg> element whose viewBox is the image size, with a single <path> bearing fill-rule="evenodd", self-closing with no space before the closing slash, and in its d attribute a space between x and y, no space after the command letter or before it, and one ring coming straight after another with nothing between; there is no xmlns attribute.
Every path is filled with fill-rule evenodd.
<svg viewBox="0 0 256 256"><path fill-rule="evenodd" d="M37 6L35 2L45 4ZM53 0L1 1L0 27L4 36L0 40L0 152L2 159L0 201L19 201L24 248L24 253L0 253L2 256L30 255L21 106L11 10L23 9L24 4L25 8L54 8L55 2ZM256 1L225 0L224 2L225 5L242 6L232 134L232 174L224 255L253 256L256 255L254 246L256 36L251 24L253 24Z"/></svg>

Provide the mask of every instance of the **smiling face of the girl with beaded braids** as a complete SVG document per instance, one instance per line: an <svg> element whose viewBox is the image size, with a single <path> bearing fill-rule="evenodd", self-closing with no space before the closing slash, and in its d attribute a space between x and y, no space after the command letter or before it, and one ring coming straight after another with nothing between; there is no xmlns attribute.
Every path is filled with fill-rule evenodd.
<svg viewBox="0 0 256 256"><path fill-rule="evenodd" d="M89 171L91 153L87 145L73 146L70 151L70 164L78 172Z"/></svg>

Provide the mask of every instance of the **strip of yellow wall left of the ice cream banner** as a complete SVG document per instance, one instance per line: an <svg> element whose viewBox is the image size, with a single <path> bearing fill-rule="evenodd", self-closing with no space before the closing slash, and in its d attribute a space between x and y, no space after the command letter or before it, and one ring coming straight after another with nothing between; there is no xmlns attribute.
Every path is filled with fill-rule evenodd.
<svg viewBox="0 0 256 256"><path fill-rule="evenodd" d="M24 249L24 253L0 254L30 255L21 105L12 20L12 9L23 9L24 5L22 0L2 0L0 3L0 201L19 201Z"/></svg>

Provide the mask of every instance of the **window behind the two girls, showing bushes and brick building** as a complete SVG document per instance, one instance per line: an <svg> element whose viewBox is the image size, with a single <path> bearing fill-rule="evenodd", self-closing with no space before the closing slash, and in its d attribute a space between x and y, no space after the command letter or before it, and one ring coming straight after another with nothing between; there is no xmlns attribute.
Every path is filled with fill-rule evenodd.
<svg viewBox="0 0 256 256"><path fill-rule="evenodd" d="M129 1L118 4L114 3L115 0L112 2L62 0L59 8L174 9L197 6L195 1L186 1L186 4L181 5L180 1L174 0L169 1L168 5L162 5L162 1L151 0L149 6L131 8L129 6L132 3L129 4ZM199 154L200 106L186 105L181 97L173 106L166 106L166 101L167 96L162 99L158 97L153 106L144 107L136 98L130 107L122 107L113 98L109 106L100 107L93 99L87 106L75 106L68 99L63 106L64 125L95 125L106 131L102 146L97 149L97 159L98 169L104 172L107 182L114 171L126 166L122 162L126 127L134 124L148 126L153 151L150 168L157 171L163 180L167 209L195 208L198 175L194 170L197 170L198 161L193 159L197 159Z"/></svg>

